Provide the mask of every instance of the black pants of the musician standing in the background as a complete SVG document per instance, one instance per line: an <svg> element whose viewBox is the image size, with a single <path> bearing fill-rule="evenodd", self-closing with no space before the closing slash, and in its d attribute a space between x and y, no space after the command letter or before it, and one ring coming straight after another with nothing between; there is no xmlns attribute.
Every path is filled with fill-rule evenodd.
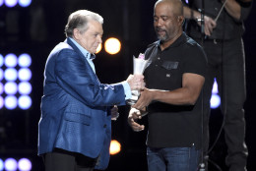
<svg viewBox="0 0 256 171"><path fill-rule="evenodd" d="M197 40L200 42L200 40ZM246 98L245 56L241 38L234 40L205 40L208 70L204 87L205 101L205 153L209 143L208 123L210 99L214 79L217 79L224 114L224 136L227 145L225 163L230 171L244 171L248 150L245 145L245 120L243 104Z"/></svg>

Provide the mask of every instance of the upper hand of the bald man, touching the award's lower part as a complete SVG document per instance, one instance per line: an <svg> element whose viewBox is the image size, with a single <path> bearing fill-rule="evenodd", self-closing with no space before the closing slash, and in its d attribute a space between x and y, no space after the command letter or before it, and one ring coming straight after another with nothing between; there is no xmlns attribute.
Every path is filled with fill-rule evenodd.
<svg viewBox="0 0 256 171"><path fill-rule="evenodd" d="M144 110L154 99L154 91L148 88L144 88L141 91L140 98L138 101L132 106L138 110Z"/></svg>

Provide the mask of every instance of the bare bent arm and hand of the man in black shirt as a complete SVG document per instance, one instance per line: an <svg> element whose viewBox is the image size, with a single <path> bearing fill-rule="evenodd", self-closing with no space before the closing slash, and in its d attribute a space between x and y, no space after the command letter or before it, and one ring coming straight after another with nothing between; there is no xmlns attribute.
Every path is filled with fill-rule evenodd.
<svg viewBox="0 0 256 171"><path fill-rule="evenodd" d="M144 89L137 103L133 106L142 109L153 100L174 104L194 105L204 85L205 78L192 73L186 73L182 77L182 87L174 90Z"/></svg>

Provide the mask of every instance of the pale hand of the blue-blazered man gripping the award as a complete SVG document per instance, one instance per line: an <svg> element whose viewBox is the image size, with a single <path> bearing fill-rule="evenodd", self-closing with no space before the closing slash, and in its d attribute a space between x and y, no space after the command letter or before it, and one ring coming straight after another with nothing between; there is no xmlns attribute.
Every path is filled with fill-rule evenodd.
<svg viewBox="0 0 256 171"><path fill-rule="evenodd" d="M130 85L131 90L141 90L145 87L143 75L130 75L126 81Z"/></svg>

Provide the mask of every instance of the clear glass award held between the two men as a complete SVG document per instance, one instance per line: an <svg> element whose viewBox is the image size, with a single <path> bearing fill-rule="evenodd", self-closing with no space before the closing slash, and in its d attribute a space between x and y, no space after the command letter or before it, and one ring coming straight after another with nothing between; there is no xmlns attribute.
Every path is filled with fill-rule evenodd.
<svg viewBox="0 0 256 171"><path fill-rule="evenodd" d="M148 66L148 60L145 60L143 53L140 53L139 57L133 56L133 74L142 75L146 67ZM132 98L127 100L129 105L133 105L139 99L140 92L138 90L132 90Z"/></svg>

